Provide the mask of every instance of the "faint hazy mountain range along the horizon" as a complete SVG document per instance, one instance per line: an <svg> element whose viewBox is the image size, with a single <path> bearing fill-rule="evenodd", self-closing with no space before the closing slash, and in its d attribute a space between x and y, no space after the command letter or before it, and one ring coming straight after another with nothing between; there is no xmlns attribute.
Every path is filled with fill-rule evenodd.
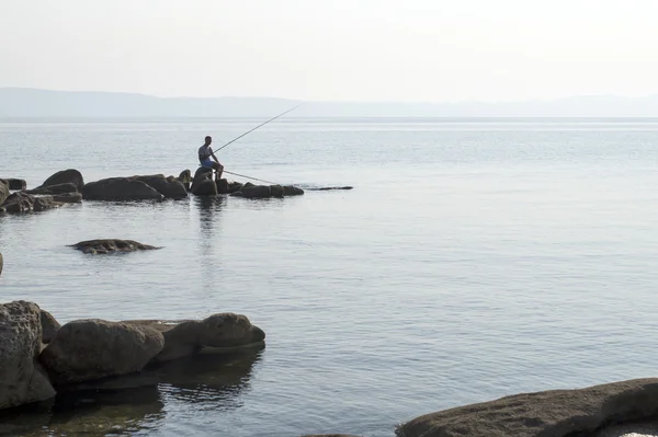
<svg viewBox="0 0 658 437"><path fill-rule="evenodd" d="M0 117L268 117L295 104L268 97L156 97L144 94L0 88ZM523 102L308 102L291 117L658 117L658 95L575 96Z"/></svg>

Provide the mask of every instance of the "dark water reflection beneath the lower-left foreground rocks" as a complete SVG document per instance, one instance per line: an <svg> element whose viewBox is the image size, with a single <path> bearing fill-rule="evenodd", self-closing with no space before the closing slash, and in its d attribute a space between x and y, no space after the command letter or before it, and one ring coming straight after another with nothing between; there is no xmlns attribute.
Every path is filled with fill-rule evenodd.
<svg viewBox="0 0 658 437"><path fill-rule="evenodd" d="M139 375L60 390L53 402L0 414L1 436L128 436L157 429L167 404L235 410L264 346L197 355Z"/></svg>

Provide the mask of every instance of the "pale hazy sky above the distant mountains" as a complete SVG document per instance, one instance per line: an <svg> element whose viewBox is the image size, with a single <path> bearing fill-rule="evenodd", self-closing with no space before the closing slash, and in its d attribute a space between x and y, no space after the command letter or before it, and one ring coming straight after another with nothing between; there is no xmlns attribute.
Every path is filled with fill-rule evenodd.
<svg viewBox="0 0 658 437"><path fill-rule="evenodd" d="M461 101L658 93L656 0L0 0L0 87Z"/></svg>

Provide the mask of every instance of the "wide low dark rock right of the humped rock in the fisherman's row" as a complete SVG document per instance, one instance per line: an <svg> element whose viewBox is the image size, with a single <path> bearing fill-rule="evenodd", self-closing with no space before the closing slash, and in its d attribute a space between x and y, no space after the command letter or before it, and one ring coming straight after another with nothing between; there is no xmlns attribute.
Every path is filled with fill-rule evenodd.
<svg viewBox="0 0 658 437"><path fill-rule="evenodd" d="M87 200L162 200L164 196L141 181L129 177L110 177L90 182L82 188Z"/></svg>

